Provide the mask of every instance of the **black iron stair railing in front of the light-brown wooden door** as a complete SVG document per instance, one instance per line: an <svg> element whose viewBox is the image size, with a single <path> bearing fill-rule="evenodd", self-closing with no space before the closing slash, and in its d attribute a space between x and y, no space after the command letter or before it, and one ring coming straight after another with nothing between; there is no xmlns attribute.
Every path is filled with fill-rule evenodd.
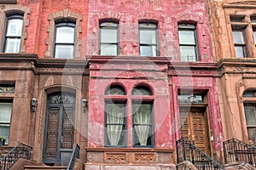
<svg viewBox="0 0 256 170"><path fill-rule="evenodd" d="M190 161L200 170L224 169L217 161L213 161L203 151L195 147L195 143L182 138L177 140L177 163Z"/></svg>

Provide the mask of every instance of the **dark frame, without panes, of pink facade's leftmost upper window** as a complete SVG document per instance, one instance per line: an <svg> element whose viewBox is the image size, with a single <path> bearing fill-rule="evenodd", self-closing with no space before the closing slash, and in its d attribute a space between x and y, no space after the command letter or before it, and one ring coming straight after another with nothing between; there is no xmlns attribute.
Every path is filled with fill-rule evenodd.
<svg viewBox="0 0 256 170"><path fill-rule="evenodd" d="M115 26L102 26L103 24L114 24ZM102 42L102 28L106 30L116 30L116 42ZM116 54L102 54L102 45L116 45ZM99 55L119 55L119 22L113 20L103 20L99 23Z"/></svg>

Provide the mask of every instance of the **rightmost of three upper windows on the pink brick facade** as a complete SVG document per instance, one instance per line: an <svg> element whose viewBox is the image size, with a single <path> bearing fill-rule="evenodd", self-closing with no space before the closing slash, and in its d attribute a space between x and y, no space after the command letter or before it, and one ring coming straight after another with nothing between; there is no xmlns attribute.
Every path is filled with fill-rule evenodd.
<svg viewBox="0 0 256 170"><path fill-rule="evenodd" d="M179 24L177 27L181 60L199 60L195 26L191 24Z"/></svg>

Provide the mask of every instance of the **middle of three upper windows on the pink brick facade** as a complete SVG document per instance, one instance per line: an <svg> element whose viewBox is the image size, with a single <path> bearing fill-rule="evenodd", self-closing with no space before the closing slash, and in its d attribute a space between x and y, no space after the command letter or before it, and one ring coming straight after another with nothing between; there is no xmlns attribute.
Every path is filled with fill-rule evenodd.
<svg viewBox="0 0 256 170"><path fill-rule="evenodd" d="M157 25L153 23L139 24L139 41L141 56L159 56Z"/></svg>

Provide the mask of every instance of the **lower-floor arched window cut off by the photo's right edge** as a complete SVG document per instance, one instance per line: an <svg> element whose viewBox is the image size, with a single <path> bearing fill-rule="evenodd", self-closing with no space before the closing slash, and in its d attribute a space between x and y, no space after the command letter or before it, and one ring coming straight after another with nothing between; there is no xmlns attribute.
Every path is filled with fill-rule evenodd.
<svg viewBox="0 0 256 170"><path fill-rule="evenodd" d="M256 144L256 104L253 102L253 98L256 98L256 90L247 90L242 94L242 97L245 99L243 105L247 122L248 139Z"/></svg>

